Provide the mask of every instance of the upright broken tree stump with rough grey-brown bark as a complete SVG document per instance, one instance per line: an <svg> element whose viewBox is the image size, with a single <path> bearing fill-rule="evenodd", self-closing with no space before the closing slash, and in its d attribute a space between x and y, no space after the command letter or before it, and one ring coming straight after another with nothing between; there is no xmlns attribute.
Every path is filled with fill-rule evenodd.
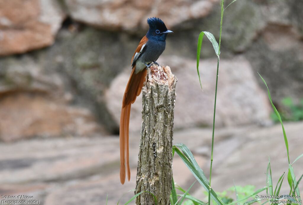
<svg viewBox="0 0 303 205"><path fill-rule="evenodd" d="M148 69L142 89L143 110L140 151L135 194L149 191L157 204L170 204L172 177L172 139L177 78L168 66ZM149 193L136 198L136 204L151 205Z"/></svg>

